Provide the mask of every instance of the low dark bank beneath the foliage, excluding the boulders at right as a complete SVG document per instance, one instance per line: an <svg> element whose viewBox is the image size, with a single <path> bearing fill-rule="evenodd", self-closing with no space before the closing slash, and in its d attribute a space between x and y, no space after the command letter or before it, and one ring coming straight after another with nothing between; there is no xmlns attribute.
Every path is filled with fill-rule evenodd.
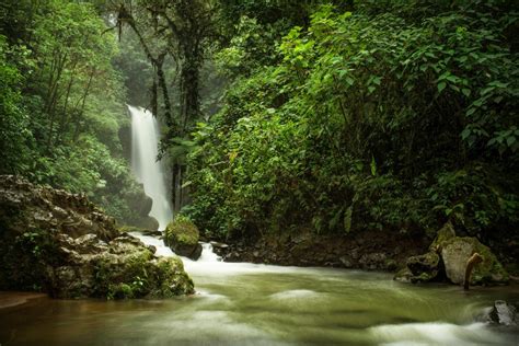
<svg viewBox="0 0 519 346"><path fill-rule="evenodd" d="M332 266L365 270L396 270L408 256L427 249L426 239L380 232L314 235L310 231L265 235L249 241L214 245L227 262L295 266Z"/></svg>

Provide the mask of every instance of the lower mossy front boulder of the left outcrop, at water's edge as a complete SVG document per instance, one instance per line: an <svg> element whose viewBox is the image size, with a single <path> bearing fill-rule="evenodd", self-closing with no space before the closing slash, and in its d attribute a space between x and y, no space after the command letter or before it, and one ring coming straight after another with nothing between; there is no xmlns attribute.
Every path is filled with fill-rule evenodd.
<svg viewBox="0 0 519 346"><path fill-rule="evenodd" d="M46 267L53 297L169 298L194 292L178 257L158 258L128 234L108 243L94 234L61 234L57 241L62 260Z"/></svg>

